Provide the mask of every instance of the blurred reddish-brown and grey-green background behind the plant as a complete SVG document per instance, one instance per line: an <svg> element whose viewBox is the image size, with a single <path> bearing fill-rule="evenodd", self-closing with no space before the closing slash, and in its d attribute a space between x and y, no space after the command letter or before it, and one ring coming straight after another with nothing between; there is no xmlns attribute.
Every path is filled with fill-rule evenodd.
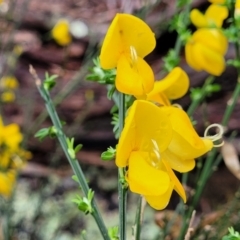
<svg viewBox="0 0 240 240"><path fill-rule="evenodd" d="M107 226L117 225L117 169L114 162L100 159L107 147L117 143L109 113L113 102L107 98L105 86L86 81L86 77L93 67L92 59L99 54L111 20L116 13L125 12L141 17L155 32L157 47L146 60L153 67L156 79L160 79L162 57L174 47L177 37L176 32L168 31L170 20L177 14L175 5L174 0L0 1L0 74L1 78L14 77L18 82L14 90L15 100L0 103L1 115L5 124L17 123L21 127L23 148L32 153L31 160L19 173L8 211L9 239L100 239L91 216L84 216L72 202L79 189L72 180L72 170L57 140L47 138L39 141L34 138L39 129L51 126L51 121L29 73L29 64L33 65L41 79L46 72L58 75L51 94L61 120L66 123L64 130L67 136L76 139L76 143L83 144L78 159L90 187L95 191ZM195 0L192 7L204 10L208 5L205 0ZM52 29L63 19L70 26L71 39L67 44L52 37ZM230 46L227 58L232 58L233 54ZM197 73L188 67L184 50L181 51L180 65L188 73L191 87L203 84L207 73ZM237 73L233 67L228 67L216 79L221 90L207 98L194 114L200 135L203 135L206 119L208 124L221 121L236 81ZM190 103L189 94L178 103L186 109ZM229 122L227 134L236 133L232 144L238 154L239 119L240 102ZM192 178L194 174L193 171ZM189 185L187 189L191 195L194 192L191 181ZM238 187L239 180L221 164L209 180L198 206L196 239L220 239L216 235L211 237L209 232L216 233L219 229L224 232L232 225L240 228L240 204L236 200L239 193L235 194ZM143 240L175 239L179 232L177 225L171 227L167 238L161 236L177 203L178 198L173 196L165 211L156 212L146 207ZM136 210L136 196L133 194L129 194L128 208L128 230L131 233ZM224 220L222 216L228 211L229 216ZM0 215L2 227L4 218ZM0 239L4 239L3 233Z"/></svg>

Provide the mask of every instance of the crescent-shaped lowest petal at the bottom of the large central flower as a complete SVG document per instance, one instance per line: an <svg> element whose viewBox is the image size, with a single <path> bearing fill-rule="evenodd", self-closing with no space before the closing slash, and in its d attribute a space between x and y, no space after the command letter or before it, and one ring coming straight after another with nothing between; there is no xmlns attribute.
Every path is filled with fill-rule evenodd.
<svg viewBox="0 0 240 240"><path fill-rule="evenodd" d="M156 209L156 210L162 210L164 209L169 201L170 201L170 197L172 195L172 191L173 191L173 184L171 183L168 190L159 196L144 196L146 201L148 202L148 204Z"/></svg>

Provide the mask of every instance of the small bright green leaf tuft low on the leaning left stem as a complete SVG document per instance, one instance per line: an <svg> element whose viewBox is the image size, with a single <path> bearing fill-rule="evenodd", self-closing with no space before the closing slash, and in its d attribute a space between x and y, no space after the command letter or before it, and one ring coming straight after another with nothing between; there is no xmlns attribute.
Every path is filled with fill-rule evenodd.
<svg viewBox="0 0 240 240"><path fill-rule="evenodd" d="M92 199L94 197L94 191L91 189L88 191L87 197L81 197L77 195L72 201L77 204L78 209L85 214L93 213Z"/></svg>

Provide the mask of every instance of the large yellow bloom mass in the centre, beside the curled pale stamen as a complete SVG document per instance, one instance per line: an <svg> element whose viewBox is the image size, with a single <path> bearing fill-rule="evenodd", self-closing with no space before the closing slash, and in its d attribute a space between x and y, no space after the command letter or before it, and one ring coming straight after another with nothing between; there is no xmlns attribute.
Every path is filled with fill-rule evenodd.
<svg viewBox="0 0 240 240"><path fill-rule="evenodd" d="M192 170L194 158L212 147L211 140L198 136L183 110L136 100L117 145L116 165L128 166L131 191L144 195L152 207L162 209L173 189L186 201L182 185L171 169Z"/></svg>

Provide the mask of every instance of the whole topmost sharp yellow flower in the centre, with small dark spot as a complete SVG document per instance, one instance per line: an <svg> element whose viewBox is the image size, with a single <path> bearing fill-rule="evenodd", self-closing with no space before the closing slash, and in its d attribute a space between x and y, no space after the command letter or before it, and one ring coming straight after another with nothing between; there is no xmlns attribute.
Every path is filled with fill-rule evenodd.
<svg viewBox="0 0 240 240"><path fill-rule="evenodd" d="M154 33L141 19L116 14L100 53L103 69L117 68L116 88L131 95L145 95L154 84L150 66L143 60L156 45Z"/></svg>

